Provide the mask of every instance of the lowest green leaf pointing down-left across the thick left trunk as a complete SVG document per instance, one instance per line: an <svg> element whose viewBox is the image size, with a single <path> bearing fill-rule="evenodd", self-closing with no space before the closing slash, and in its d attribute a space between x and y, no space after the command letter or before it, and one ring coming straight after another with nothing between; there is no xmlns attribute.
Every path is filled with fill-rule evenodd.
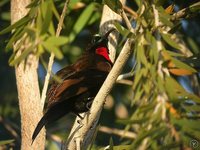
<svg viewBox="0 0 200 150"><path fill-rule="evenodd" d="M33 51L34 46L30 46L29 48L27 48L26 50L24 50L21 55L17 56L17 58L14 58L13 60L10 59L9 64L11 66L15 66L18 65L21 61L23 61L24 59L27 58L27 56Z"/></svg>

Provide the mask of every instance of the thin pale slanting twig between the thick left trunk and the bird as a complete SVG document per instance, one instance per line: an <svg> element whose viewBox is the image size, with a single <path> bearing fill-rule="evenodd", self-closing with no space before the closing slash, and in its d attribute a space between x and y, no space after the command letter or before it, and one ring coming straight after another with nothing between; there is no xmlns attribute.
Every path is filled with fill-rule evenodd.
<svg viewBox="0 0 200 150"><path fill-rule="evenodd" d="M65 18L66 12L67 12L67 6L68 6L68 4L69 4L69 1L70 1L70 0L66 0L65 5L64 5L64 8L63 8L63 11L62 11L62 14L61 14L61 16L60 16L59 23L58 23L58 27L57 27L57 30L56 30L56 36L57 36L57 37L60 35L60 32L61 32L61 30L62 30L63 21L64 21L64 18ZM51 56L50 56L50 58L49 58L49 63L48 63L47 74L46 74L44 86L43 86L43 89L42 89L42 96L41 96L41 103L42 103L42 106L44 106L44 102L45 102L45 99L46 99L46 93L47 93L47 88L48 88L48 84L49 84L49 79L50 79L50 75L51 75L51 71L52 71L52 66L53 66L53 62L54 62L54 57L55 57L54 53L51 52Z"/></svg>

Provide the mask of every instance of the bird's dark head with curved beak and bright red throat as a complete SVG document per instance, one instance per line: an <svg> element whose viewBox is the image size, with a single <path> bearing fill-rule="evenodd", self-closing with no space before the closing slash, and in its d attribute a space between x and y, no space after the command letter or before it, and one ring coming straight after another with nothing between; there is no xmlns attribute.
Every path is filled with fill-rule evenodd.
<svg viewBox="0 0 200 150"><path fill-rule="evenodd" d="M94 35L92 42L91 42L91 46L89 48L89 51L94 52L97 55L101 55L106 60L111 62L111 60L109 58L108 36L114 30L115 29L109 30L103 36L100 36L99 34Z"/></svg>

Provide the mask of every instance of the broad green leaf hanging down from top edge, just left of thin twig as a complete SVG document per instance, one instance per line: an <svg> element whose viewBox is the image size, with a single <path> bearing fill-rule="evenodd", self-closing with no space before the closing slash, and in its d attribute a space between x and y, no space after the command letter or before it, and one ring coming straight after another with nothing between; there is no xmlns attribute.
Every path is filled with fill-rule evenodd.
<svg viewBox="0 0 200 150"><path fill-rule="evenodd" d="M49 30L49 25L52 19L52 1L51 0L45 1L42 4L41 9L44 16L41 34L44 34Z"/></svg>

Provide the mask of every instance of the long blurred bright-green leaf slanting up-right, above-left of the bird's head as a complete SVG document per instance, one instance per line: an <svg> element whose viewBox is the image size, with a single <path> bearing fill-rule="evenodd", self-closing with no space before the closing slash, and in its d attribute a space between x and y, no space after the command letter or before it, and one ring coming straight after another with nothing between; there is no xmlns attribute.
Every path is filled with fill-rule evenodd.
<svg viewBox="0 0 200 150"><path fill-rule="evenodd" d="M84 28L84 26L88 23L90 17L92 16L95 9L95 4L91 3L84 9L78 20L76 21L70 35L69 42L74 41L76 35Z"/></svg>

